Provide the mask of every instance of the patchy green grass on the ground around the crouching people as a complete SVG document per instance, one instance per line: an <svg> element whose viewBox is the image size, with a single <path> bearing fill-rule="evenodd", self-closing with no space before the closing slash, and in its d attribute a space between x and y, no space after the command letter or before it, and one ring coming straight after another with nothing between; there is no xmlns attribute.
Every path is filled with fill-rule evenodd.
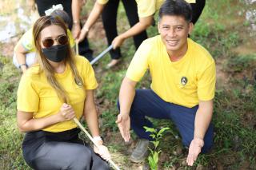
<svg viewBox="0 0 256 170"><path fill-rule="evenodd" d="M186 167L187 151L182 147L181 138L170 121L154 121L156 127L169 127L165 138L160 141L162 153L160 168L256 168L256 73L255 54L234 53L232 49L244 42L250 23L241 20L238 10L244 1L210 0L191 37L206 47L226 77L226 85L216 89L214 99L214 148L205 155L200 155L193 168ZM239 5L239 6L238 6ZM90 3L92 6L92 3ZM83 13L90 7L86 7ZM251 8L251 6L248 6ZM247 8L246 8L247 9ZM246 9L242 10L245 11ZM128 29L128 22L122 3L118 11L118 31ZM228 14L226 14L228 13ZM155 18L157 21L157 18ZM240 24L239 24L240 23ZM242 30L242 31L241 31ZM150 26L149 37L158 34L157 26ZM250 32L248 32L248 36ZM248 37L249 38L249 37ZM106 38L91 41L94 53L106 48ZM94 43L95 42L95 43ZM4 47L4 46L0 46ZM118 109L116 102L122 77L134 56L131 38L122 45L122 63L114 69L104 69L110 61L107 54L94 69L99 87L95 92L96 103L101 113L102 136L113 154L113 160L123 169L138 169L140 165L129 160L134 147L135 136L130 145L124 144L115 124ZM221 63L223 63L221 65ZM22 158L21 143L23 135L16 127L16 91L20 73L14 68L10 57L0 56L0 169L29 169ZM218 81L219 84L222 81ZM149 73L138 84L138 88L150 87ZM83 138L84 136L81 135Z"/></svg>

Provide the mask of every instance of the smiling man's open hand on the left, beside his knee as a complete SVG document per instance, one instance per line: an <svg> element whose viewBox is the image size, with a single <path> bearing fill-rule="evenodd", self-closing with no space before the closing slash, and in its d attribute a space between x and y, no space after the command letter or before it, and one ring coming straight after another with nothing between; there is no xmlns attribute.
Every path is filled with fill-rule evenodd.
<svg viewBox="0 0 256 170"><path fill-rule="evenodd" d="M128 142L130 140L130 117L128 114L118 114L118 120L115 121L118 124L119 131L122 138Z"/></svg>

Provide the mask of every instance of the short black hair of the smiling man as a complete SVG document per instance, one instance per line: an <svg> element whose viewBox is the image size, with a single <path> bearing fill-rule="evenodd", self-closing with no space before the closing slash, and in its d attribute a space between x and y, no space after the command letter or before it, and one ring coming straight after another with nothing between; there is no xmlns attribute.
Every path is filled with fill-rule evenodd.
<svg viewBox="0 0 256 170"><path fill-rule="evenodd" d="M159 21L164 15L182 16L186 22L191 22L192 8L185 0L166 0L159 10Z"/></svg>

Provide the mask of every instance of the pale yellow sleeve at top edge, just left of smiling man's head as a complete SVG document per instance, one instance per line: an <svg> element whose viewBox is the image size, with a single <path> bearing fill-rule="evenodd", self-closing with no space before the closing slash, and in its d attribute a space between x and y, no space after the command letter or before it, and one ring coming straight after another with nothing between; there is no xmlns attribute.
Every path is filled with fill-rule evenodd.
<svg viewBox="0 0 256 170"><path fill-rule="evenodd" d="M145 18L155 13L157 0L137 0L138 17Z"/></svg>

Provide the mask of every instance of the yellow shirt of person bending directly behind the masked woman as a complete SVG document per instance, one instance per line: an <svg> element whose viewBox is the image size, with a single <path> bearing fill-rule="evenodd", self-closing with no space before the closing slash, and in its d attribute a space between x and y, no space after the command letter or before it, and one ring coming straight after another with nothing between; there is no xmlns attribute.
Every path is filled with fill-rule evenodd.
<svg viewBox="0 0 256 170"><path fill-rule="evenodd" d="M71 34L71 31L67 30L67 36L70 40L70 46L71 48L74 47L75 42L74 38ZM18 41L17 45L14 47L14 51L17 49L18 45L22 44L23 48L26 49L27 52L35 52L35 46L34 46L34 36L33 36L33 29L30 28L30 30L26 31L25 34L22 35L22 38Z"/></svg>

